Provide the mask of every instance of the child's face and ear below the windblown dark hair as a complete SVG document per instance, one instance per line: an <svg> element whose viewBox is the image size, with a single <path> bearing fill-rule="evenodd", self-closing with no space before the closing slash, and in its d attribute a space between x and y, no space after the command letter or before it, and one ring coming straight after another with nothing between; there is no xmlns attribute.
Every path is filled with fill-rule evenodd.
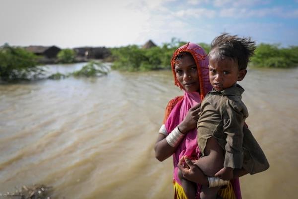
<svg viewBox="0 0 298 199"><path fill-rule="evenodd" d="M238 63L233 59L209 60L209 80L217 91L233 86L243 80L246 69L239 70Z"/></svg>

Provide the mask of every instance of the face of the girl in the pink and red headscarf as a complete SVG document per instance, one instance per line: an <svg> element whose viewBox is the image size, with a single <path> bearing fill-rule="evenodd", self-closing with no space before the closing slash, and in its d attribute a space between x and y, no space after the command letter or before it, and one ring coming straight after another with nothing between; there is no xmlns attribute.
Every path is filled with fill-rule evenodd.
<svg viewBox="0 0 298 199"><path fill-rule="evenodd" d="M200 90L198 70L191 55L184 55L175 64L176 77L184 90L195 92Z"/></svg>

